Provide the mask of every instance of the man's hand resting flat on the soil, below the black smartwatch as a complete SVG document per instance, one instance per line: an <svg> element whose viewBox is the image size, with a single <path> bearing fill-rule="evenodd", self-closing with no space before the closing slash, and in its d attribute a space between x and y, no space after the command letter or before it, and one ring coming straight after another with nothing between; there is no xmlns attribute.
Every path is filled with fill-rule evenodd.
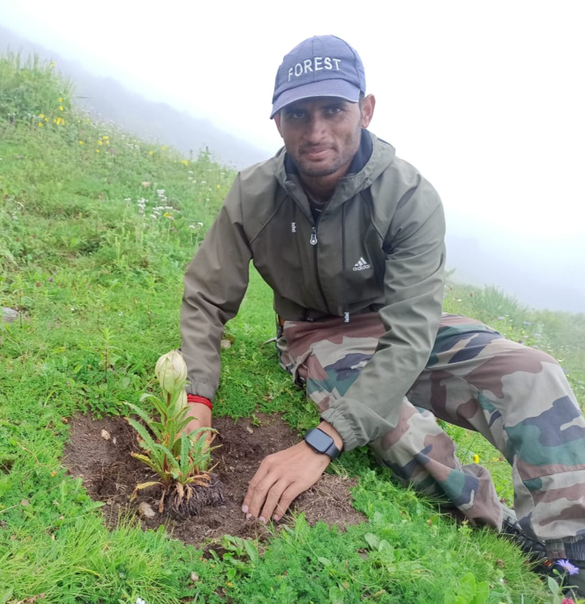
<svg viewBox="0 0 585 604"><path fill-rule="evenodd" d="M341 436L331 424L321 422L319 427L334 439L339 450L343 448ZM319 480L329 462L329 455L315 452L305 441L268 455L244 497L242 511L246 518L260 518L264 523L270 518L279 521L293 499Z"/></svg>

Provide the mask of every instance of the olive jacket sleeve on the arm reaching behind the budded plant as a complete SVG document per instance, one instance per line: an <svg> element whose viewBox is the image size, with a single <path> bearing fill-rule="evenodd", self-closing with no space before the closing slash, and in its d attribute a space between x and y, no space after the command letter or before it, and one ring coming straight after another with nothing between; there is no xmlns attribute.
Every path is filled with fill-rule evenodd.
<svg viewBox="0 0 585 604"><path fill-rule="evenodd" d="M219 384L223 326L237 314L249 281L251 250L241 197L238 176L185 272L180 333L187 392L209 399Z"/></svg>

